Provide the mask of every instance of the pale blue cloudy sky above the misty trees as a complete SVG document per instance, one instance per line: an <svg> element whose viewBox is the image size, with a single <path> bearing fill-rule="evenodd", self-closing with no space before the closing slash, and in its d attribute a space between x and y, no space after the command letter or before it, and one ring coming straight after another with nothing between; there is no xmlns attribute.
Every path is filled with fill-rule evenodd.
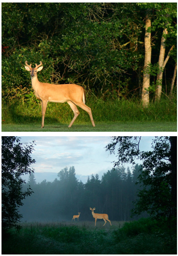
<svg viewBox="0 0 178 256"><path fill-rule="evenodd" d="M112 141L110 136L20 136L20 142L30 143L35 140L34 151L31 157L36 163L34 168L36 182L54 181L63 168L74 166L76 177L83 183L88 176L99 175L112 170L113 161L117 160L117 154L110 155L105 147ZM142 137L141 150L150 150L154 137ZM137 162L141 164L141 162ZM132 168L131 165L125 165ZM132 171L132 170L131 170ZM28 179L29 175L23 176Z"/></svg>

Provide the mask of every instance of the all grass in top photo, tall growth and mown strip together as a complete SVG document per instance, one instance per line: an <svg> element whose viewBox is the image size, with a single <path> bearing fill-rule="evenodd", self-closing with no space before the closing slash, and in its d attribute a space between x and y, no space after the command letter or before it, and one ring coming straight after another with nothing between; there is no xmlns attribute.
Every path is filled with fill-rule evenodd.
<svg viewBox="0 0 178 256"><path fill-rule="evenodd" d="M33 93L31 98L2 101L2 132L176 132L177 100L163 99L143 108L133 100L105 100L88 97L96 127L92 127L88 113L78 108L80 115L71 128L73 112L67 103L47 105L44 128L41 129L41 105Z"/></svg>

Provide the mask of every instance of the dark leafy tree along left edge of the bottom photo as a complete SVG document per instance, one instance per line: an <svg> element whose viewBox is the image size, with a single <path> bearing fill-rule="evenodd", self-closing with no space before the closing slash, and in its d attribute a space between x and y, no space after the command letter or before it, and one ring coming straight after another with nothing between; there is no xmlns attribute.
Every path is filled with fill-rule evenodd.
<svg viewBox="0 0 178 256"><path fill-rule="evenodd" d="M22 206L22 199L30 196L32 190L22 191L25 181L23 174L30 174L33 169L30 165L35 163L30 154L34 150L34 141L30 145L20 143L19 137L2 136L2 229L18 228L16 224L22 215L17 211Z"/></svg>

